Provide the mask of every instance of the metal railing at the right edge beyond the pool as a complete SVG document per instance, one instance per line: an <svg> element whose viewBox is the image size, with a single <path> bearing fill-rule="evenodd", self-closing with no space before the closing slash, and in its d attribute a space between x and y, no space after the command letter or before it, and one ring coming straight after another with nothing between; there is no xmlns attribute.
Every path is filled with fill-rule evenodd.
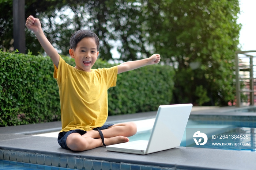
<svg viewBox="0 0 256 170"><path fill-rule="evenodd" d="M255 59L254 59L255 58ZM256 94L256 50L237 51L236 52L236 104L242 106L241 94L247 95L248 100L245 103L254 105ZM255 67L255 68L254 68ZM242 88L241 88L242 87Z"/></svg>

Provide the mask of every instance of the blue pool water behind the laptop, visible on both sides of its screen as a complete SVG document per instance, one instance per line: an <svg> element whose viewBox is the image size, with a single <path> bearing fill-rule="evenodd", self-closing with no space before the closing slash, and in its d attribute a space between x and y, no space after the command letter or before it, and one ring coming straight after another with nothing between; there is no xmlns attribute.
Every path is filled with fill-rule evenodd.
<svg viewBox="0 0 256 170"><path fill-rule="evenodd" d="M188 148L199 147L224 150L256 151L256 128L254 128L251 124L246 123L247 121L229 121L219 124L218 121L212 121L211 124L209 124L202 123L202 121L189 120L180 146L185 146ZM151 130L152 129L139 131L136 135L129 137L129 140L148 140L150 138ZM201 131L207 134L207 143L202 146L197 146L193 140L193 134L188 133L190 131L193 131L193 133ZM238 138L238 135L242 135L242 138Z"/></svg>

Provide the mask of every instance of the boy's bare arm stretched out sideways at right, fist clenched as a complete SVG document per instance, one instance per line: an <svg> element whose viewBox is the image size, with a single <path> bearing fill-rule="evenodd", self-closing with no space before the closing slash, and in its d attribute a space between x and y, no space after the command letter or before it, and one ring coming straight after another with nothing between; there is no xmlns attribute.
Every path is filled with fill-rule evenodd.
<svg viewBox="0 0 256 170"><path fill-rule="evenodd" d="M118 68L117 74L127 72L129 70L138 69L139 67L157 64L159 63L160 59L161 57L159 54L154 54L154 55L151 55L151 57L149 58L121 63L120 65L117 66Z"/></svg>

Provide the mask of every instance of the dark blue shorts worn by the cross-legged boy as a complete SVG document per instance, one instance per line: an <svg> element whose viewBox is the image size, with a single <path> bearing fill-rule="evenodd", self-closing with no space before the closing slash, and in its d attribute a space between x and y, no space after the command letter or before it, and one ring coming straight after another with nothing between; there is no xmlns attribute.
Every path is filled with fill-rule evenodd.
<svg viewBox="0 0 256 170"><path fill-rule="evenodd" d="M99 130L107 129L108 127L110 127L112 125L114 125L114 124L104 124L102 127L99 127L98 129ZM97 131L96 128L94 128L93 130ZM59 136L58 136L58 143L64 149L69 149L68 146L67 146L67 137L68 137L68 135L70 135L72 133L79 133L82 136L82 135L86 134L86 131L80 130L80 129L76 129L76 130L71 130L71 131L67 131L67 132L60 132Z"/></svg>

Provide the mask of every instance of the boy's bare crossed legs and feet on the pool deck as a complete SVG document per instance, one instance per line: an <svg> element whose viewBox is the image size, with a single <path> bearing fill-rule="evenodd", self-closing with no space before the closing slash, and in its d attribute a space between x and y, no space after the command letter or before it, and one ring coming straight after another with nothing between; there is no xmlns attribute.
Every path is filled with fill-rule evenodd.
<svg viewBox="0 0 256 170"><path fill-rule="evenodd" d="M136 124L133 122L118 123L110 126L108 129L101 130L106 145L128 142L127 137L135 135L137 132ZM72 133L67 137L67 146L73 151L85 151L103 146L98 131L87 131L80 135Z"/></svg>

